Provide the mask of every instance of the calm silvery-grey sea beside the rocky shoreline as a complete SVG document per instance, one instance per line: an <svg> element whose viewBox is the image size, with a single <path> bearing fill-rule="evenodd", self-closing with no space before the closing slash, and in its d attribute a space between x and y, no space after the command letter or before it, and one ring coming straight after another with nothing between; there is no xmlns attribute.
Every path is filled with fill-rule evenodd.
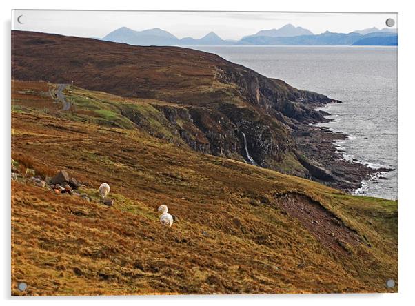
<svg viewBox="0 0 415 306"><path fill-rule="evenodd" d="M363 182L357 194L398 197L398 87L396 47L197 46L282 79L295 88L326 94L343 103L328 105L332 123L348 138L336 145L343 158L396 170Z"/></svg>

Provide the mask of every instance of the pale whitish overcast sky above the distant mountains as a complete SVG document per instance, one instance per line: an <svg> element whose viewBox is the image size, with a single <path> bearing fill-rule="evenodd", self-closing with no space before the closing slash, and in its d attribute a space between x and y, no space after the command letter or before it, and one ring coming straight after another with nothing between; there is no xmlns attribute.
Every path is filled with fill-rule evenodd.
<svg viewBox="0 0 415 306"><path fill-rule="evenodd" d="M17 17L22 16L17 22ZM259 30L281 28L287 23L320 34L353 32L364 28L385 28L394 13L305 13L305 12L154 12L14 10L12 29L71 35L104 37L123 26L132 30L161 28L179 39L200 38L210 31L222 39L241 39ZM397 27L397 22L395 26Z"/></svg>

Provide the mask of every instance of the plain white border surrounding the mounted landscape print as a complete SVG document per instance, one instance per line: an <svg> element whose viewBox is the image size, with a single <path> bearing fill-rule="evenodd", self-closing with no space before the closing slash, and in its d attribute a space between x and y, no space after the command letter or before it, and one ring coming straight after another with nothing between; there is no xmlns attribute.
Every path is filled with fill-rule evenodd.
<svg viewBox="0 0 415 306"><path fill-rule="evenodd" d="M180 305L211 305L212 303L239 303L251 305L261 303L277 305L347 305L376 303L409 303L414 300L412 284L414 283L414 10L412 1L242 1L242 0L174 0L174 1L124 1L110 3L72 1L2 1L1 2L1 194L3 195L1 225L1 298L6 303L28 302L32 305L56 304L73 305L99 303L112 305L114 302L161 305L166 303ZM307 295L263 295L263 296L139 296L139 297L94 297L94 298L10 298L10 16L12 9L99 9L99 10L237 10L237 11L301 11L301 12L398 12L399 13L399 294L307 294ZM411 124L412 123L412 124Z"/></svg>

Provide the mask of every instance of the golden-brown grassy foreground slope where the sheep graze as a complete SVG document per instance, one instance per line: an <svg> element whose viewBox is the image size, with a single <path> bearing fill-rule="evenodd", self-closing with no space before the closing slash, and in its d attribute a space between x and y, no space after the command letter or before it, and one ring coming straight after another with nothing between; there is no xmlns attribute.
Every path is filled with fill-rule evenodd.
<svg viewBox="0 0 415 306"><path fill-rule="evenodd" d="M397 292L396 201L194 152L159 126L163 101L72 88L61 112L52 86L12 83L12 158L28 173L12 181L12 294ZM34 185L30 169L68 170L92 201ZM165 238L161 204L176 216Z"/></svg>

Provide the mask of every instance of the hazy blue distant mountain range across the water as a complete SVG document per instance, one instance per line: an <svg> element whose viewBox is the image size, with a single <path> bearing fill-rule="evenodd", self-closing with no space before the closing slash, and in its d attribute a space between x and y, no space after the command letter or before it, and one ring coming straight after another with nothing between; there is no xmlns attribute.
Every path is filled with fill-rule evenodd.
<svg viewBox="0 0 415 306"><path fill-rule="evenodd" d="M261 30L233 41L221 39L214 32L209 32L200 39L179 39L160 28L134 31L122 27L105 35L102 40L130 45L398 45L398 32L397 29L374 27L350 33L326 31L313 34L305 28L287 24L279 29Z"/></svg>

